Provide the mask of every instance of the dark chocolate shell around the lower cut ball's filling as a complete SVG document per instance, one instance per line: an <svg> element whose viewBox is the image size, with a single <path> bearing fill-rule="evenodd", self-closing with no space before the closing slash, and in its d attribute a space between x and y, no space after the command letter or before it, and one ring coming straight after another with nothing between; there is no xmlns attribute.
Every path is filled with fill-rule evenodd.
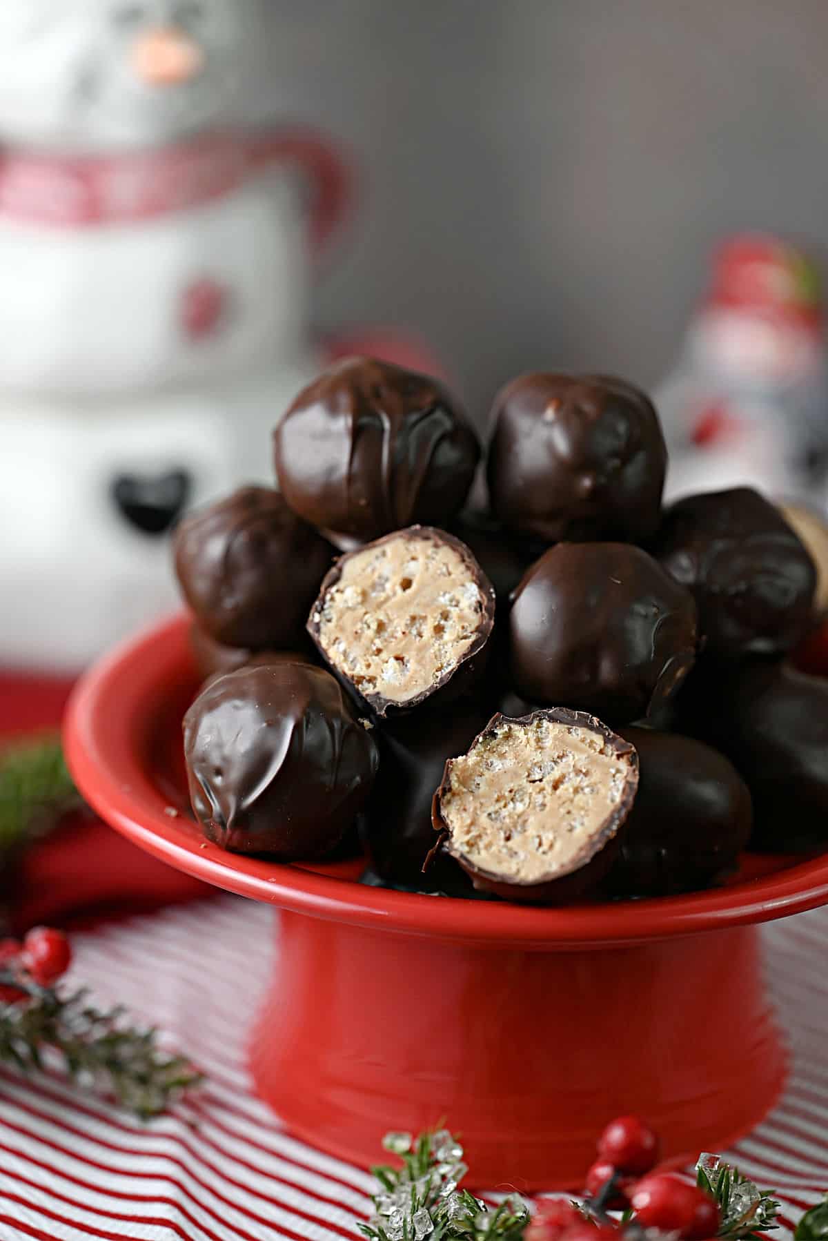
<svg viewBox="0 0 828 1241"><path fill-rule="evenodd" d="M506 901L519 901L530 905L564 905L569 901L578 900L593 892L606 879L612 864L618 854L622 835L621 831L627 820L627 815L636 799L638 787L638 756L629 742L616 736L606 725L583 711L567 711L564 707L554 707L544 711L535 711L531 715L521 716L519 724L531 724L538 716L542 716L555 724L567 724L574 727L590 728L612 746L617 757L627 766L627 781L624 795L618 808L605 819L602 825L592 833L581 854L564 874L551 874L549 879L535 880L531 884L521 884L511 877L504 879L502 875L482 870L469 861L459 850L453 848L451 829L443 818L442 798L449 788L452 774L452 761L446 763L443 779L434 793L432 803L432 823L436 831L442 833L442 850L454 858L469 876L474 887L479 891L493 892ZM506 720L506 716L495 715L487 727L479 733L480 737L490 735ZM477 738L475 738L477 740ZM472 748L472 747L469 747Z"/></svg>

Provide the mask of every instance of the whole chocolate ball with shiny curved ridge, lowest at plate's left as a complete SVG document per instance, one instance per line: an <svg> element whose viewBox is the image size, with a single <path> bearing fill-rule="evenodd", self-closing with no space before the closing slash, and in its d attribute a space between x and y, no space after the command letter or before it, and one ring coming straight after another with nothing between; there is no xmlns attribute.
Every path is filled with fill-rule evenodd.
<svg viewBox="0 0 828 1241"><path fill-rule="evenodd" d="M372 728L339 683L292 663L212 681L184 717L184 752L207 840L282 861L335 849L379 764Z"/></svg>

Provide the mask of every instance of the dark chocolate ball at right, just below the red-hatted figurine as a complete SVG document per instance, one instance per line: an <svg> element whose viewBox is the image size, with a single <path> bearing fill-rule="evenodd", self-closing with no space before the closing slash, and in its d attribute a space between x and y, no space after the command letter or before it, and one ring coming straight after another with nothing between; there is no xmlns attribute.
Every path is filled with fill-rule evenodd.
<svg viewBox="0 0 828 1241"><path fill-rule="evenodd" d="M653 555L695 596L705 654L783 654L813 616L813 560L750 488L689 495L664 514Z"/></svg>

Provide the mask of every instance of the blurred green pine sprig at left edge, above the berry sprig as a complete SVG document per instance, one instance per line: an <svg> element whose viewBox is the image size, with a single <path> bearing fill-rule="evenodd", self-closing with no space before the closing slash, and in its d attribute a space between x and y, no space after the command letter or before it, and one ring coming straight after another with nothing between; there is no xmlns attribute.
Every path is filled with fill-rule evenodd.
<svg viewBox="0 0 828 1241"><path fill-rule="evenodd" d="M0 752L0 854L45 835L79 804L58 736L47 733Z"/></svg>

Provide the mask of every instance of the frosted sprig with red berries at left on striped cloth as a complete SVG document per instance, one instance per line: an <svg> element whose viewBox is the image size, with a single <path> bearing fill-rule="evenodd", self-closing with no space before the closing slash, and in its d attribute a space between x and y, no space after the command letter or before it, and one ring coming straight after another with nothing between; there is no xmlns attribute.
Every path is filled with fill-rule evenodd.
<svg viewBox="0 0 828 1241"><path fill-rule="evenodd" d="M101 1011L83 989L60 994L71 959L66 936L50 927L22 943L0 941L0 1060L31 1072L57 1055L78 1085L107 1091L143 1119L156 1116L200 1075L164 1055L154 1030L127 1025L122 1008Z"/></svg>

